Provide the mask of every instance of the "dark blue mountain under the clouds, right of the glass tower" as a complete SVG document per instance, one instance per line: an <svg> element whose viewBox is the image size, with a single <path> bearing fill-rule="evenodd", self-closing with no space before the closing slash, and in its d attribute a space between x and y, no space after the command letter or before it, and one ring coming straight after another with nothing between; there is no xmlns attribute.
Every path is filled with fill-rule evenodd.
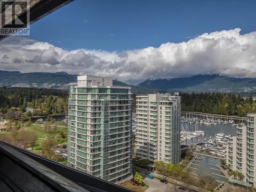
<svg viewBox="0 0 256 192"><path fill-rule="evenodd" d="M233 78L222 75L197 75L172 79L147 79L138 84L146 89L179 92L256 92L256 78Z"/></svg>

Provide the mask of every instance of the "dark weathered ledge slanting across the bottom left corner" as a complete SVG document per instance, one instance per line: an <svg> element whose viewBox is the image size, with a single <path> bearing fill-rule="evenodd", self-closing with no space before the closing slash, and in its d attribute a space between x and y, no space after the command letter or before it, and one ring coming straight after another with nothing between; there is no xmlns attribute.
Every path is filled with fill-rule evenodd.
<svg viewBox="0 0 256 192"><path fill-rule="evenodd" d="M131 190L0 141L1 191Z"/></svg>

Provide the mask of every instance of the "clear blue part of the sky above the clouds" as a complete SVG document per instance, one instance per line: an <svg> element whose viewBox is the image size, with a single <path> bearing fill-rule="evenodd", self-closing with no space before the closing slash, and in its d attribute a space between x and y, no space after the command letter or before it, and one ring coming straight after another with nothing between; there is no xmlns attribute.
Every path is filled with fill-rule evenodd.
<svg viewBox="0 0 256 192"><path fill-rule="evenodd" d="M202 33L256 31L255 1L75 0L31 25L30 37L66 50L159 47Z"/></svg>

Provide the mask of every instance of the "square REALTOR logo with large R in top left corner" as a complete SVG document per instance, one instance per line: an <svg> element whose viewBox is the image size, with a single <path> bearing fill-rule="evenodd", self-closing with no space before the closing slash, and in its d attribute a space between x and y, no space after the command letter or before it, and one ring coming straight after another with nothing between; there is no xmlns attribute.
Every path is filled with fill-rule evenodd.
<svg viewBox="0 0 256 192"><path fill-rule="evenodd" d="M30 0L0 1L0 35L29 35Z"/></svg>

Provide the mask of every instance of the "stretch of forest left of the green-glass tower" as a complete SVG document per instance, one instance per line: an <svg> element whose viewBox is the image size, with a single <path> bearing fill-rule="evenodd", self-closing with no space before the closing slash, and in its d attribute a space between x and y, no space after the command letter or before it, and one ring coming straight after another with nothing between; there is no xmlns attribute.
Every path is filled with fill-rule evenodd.
<svg viewBox="0 0 256 192"><path fill-rule="evenodd" d="M68 92L63 90L34 88L0 88L0 112L8 110L26 112L35 109L31 115L49 115L67 110Z"/></svg>

